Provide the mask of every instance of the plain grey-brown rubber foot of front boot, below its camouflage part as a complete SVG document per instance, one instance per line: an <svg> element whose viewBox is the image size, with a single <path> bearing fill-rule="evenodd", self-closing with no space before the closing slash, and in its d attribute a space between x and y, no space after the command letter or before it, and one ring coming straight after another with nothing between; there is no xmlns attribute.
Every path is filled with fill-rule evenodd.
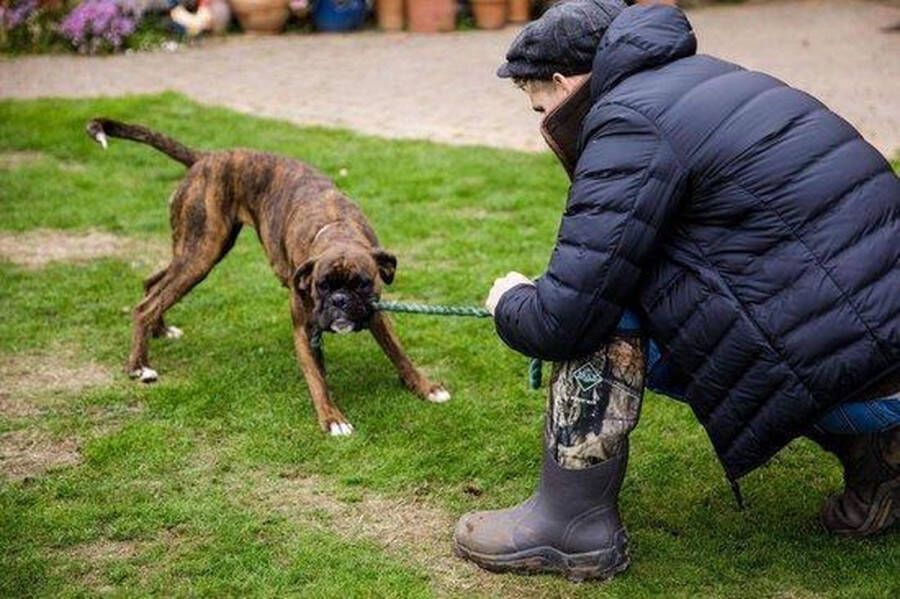
<svg viewBox="0 0 900 599"><path fill-rule="evenodd" d="M460 518L457 555L494 572L557 572L576 581L625 570L628 538L617 501L627 461L626 449L590 468L566 470L548 451L527 501Z"/></svg>

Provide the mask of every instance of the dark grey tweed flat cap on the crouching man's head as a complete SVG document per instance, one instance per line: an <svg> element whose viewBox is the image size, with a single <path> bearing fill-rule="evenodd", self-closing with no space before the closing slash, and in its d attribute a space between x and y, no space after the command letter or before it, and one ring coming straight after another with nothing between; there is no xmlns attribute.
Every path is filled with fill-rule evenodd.
<svg viewBox="0 0 900 599"><path fill-rule="evenodd" d="M622 0L564 0L554 4L519 32L497 76L550 79L553 73L589 73L600 39L626 5Z"/></svg>

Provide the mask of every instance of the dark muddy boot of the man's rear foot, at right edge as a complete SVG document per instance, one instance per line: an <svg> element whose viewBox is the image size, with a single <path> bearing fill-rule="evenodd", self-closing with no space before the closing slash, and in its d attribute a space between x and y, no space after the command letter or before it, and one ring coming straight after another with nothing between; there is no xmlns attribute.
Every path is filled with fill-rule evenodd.
<svg viewBox="0 0 900 599"><path fill-rule="evenodd" d="M900 520L900 428L844 439L831 435L821 444L844 466L844 492L822 506L829 532L865 537Z"/></svg>

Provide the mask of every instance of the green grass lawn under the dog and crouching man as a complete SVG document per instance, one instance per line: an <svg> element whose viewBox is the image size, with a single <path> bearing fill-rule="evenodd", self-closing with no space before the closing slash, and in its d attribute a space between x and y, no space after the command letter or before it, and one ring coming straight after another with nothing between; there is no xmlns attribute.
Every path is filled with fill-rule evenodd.
<svg viewBox="0 0 900 599"><path fill-rule="evenodd" d="M183 168L130 142L103 152L83 133L101 114L195 147L278 152L335 177L347 169L340 186L399 258L391 299L480 304L496 276L538 274L564 203L549 154L299 128L171 94L2 102L0 158L30 158L0 170L0 233L97 229L166 242L166 199ZM364 512L414 500L452 522L524 498L544 404L543 392L526 389L526 360L488 322L398 315L413 359L454 394L432 405L404 391L368 335L329 337L330 385L357 433L328 438L296 367L286 292L252 231L169 313L185 337L152 343L154 386L121 372L126 308L150 271L133 262L0 261L0 356L69 355L112 373L86 390L32 392L31 412L0 412L0 433L76 439L81 456L23 480L0 477L2 596L900 593L900 535L857 542L819 529L819 503L840 483L833 460L793 444L744 480L739 512L689 410L658 396L645 402L622 495L633 555L625 575L603 585L479 575L454 565L448 530L423 551L474 582L448 581L414 544L397 551L383 535L348 534L340 506L389 519ZM304 477L332 507L276 509Z"/></svg>

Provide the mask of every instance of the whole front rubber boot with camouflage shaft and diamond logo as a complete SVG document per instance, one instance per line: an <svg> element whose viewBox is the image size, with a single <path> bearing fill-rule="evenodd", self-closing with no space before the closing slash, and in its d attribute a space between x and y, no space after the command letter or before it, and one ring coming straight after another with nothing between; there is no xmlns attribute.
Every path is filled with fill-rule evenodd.
<svg viewBox="0 0 900 599"><path fill-rule="evenodd" d="M554 365L537 492L506 510L463 516L456 553L498 572L610 578L628 567L618 497L628 434L644 387L639 335L620 334L594 354Z"/></svg>

